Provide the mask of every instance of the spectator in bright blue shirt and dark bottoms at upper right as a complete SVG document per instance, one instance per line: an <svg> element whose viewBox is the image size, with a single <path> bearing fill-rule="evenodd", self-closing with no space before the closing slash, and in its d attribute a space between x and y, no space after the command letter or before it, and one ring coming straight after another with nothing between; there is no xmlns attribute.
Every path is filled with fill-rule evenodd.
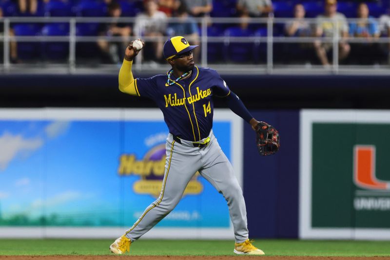
<svg viewBox="0 0 390 260"><path fill-rule="evenodd" d="M369 17L369 8L362 2L357 7L357 21L350 24L350 36L365 38L367 42L351 43L351 60L358 64L370 64L380 56L379 46L372 39L380 35L378 23Z"/></svg>

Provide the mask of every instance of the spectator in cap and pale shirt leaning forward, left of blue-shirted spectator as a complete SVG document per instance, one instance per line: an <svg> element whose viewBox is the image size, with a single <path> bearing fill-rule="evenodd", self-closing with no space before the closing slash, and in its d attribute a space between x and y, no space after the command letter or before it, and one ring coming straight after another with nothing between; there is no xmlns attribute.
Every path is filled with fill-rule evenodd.
<svg viewBox="0 0 390 260"><path fill-rule="evenodd" d="M317 16L315 36L316 37L333 37L334 26L337 24L338 34L340 34L339 42L339 61L345 59L350 51L351 46L345 39L348 38L348 23L346 17L337 12L337 0L325 0L325 12L323 15ZM330 54L332 42L314 41L315 52L324 66L329 66L327 54Z"/></svg>

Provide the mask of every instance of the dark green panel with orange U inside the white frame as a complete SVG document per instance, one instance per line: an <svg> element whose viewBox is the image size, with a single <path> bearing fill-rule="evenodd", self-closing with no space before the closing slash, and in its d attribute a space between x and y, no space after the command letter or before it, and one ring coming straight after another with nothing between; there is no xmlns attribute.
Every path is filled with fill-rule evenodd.
<svg viewBox="0 0 390 260"><path fill-rule="evenodd" d="M313 124L312 226L390 227L390 124Z"/></svg>

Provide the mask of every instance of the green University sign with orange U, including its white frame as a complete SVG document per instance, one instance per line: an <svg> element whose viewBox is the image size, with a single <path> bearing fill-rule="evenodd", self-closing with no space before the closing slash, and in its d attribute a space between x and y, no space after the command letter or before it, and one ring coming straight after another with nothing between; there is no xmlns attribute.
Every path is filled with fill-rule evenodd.
<svg viewBox="0 0 390 260"><path fill-rule="evenodd" d="M300 237L390 239L390 111L301 111Z"/></svg>

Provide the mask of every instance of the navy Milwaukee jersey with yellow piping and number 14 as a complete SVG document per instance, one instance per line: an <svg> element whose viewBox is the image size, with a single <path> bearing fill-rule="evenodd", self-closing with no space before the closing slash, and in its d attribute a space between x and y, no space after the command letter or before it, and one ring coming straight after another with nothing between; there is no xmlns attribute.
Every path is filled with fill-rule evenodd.
<svg viewBox="0 0 390 260"><path fill-rule="evenodd" d="M167 80L168 75L137 78L137 94L156 102L172 134L189 141L207 137L213 127L213 96L230 94L225 81L215 70L196 66L189 78L170 86Z"/></svg>

